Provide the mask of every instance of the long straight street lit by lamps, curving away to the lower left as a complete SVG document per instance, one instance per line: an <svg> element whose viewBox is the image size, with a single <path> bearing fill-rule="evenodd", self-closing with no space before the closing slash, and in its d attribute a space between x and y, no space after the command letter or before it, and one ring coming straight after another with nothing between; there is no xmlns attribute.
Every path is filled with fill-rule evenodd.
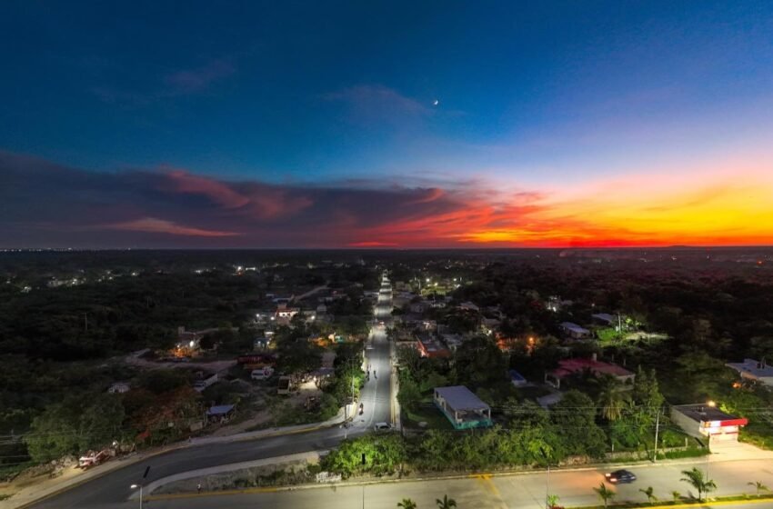
<svg viewBox="0 0 773 509"><path fill-rule="evenodd" d="M391 312L391 287L382 286L376 305L376 318L388 319ZM161 454L147 462L129 465L115 470L94 481L47 499L36 508L85 508L106 507L111 504L124 504L131 495L129 486L139 481L146 465L151 466L146 483L167 475L187 472L198 468L207 468L218 464L231 464L244 461L303 453L335 447L346 433L348 436L372 430L373 424L389 422L389 344L384 328L377 323L373 326L366 346L366 362L376 369L376 378L366 383L362 392L364 414L357 416L354 426L348 430L339 428L319 430L306 434L292 434L264 438L254 442L202 445Z"/></svg>

